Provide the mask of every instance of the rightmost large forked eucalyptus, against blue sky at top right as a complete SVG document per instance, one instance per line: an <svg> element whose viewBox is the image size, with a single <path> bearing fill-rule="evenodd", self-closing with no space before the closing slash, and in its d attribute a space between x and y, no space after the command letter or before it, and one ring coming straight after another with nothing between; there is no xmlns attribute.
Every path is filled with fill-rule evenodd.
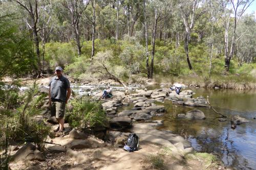
<svg viewBox="0 0 256 170"><path fill-rule="evenodd" d="M229 71L230 60L234 55L234 46L240 37L237 37L237 26L246 9L254 0L218 0L221 7L222 26L225 29L225 68ZM232 27L232 28L230 28ZM231 39L229 38L231 37Z"/></svg>

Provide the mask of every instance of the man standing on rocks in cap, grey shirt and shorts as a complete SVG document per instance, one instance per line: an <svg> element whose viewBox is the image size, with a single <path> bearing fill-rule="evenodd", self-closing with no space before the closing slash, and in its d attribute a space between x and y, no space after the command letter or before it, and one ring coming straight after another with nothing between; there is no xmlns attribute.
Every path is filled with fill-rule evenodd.
<svg viewBox="0 0 256 170"><path fill-rule="evenodd" d="M64 128L65 106L68 103L71 88L69 80L62 76L63 69L55 68L56 76L49 83L49 104L51 106L52 115L55 115L59 127L54 132L62 132Z"/></svg>

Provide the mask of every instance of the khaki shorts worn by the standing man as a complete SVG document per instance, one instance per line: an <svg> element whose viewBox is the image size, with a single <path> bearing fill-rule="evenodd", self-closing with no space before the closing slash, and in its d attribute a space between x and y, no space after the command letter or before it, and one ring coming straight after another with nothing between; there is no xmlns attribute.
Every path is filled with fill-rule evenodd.
<svg viewBox="0 0 256 170"><path fill-rule="evenodd" d="M56 118L63 118L65 115L65 102L57 102L57 101L52 101L51 103L51 112L52 115L55 115Z"/></svg>

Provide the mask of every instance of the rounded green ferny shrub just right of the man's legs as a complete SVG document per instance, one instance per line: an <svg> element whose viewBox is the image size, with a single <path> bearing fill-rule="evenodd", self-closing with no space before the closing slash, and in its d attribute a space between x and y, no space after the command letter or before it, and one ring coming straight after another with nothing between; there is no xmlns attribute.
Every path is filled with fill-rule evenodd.
<svg viewBox="0 0 256 170"><path fill-rule="evenodd" d="M69 118L72 128L77 128L78 130L90 129L95 124L103 123L106 119L100 102L83 97L74 99L71 105L74 107Z"/></svg>

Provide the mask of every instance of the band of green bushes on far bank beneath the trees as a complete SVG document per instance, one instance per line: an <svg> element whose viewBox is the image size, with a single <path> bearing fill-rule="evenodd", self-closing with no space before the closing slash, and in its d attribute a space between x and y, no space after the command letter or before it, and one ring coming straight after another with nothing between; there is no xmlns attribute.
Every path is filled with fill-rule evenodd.
<svg viewBox="0 0 256 170"><path fill-rule="evenodd" d="M116 41L115 43L108 39L96 40L94 58L99 52L104 54L106 50L111 49L111 56L107 56L108 58L106 60L110 61L110 68L120 67L126 71L125 75L121 77L123 82L128 82L133 77L132 75L136 74L142 78L146 77L144 73L146 70L145 47L139 42L138 37L127 36L123 40ZM245 63L240 66L236 64L238 63L238 59L233 58L230 63L230 71L226 72L224 68L224 54L215 54L212 57L211 73L209 75L210 61L206 44L204 42L191 43L189 45L189 56L193 70L189 70L182 44L183 42L181 42L177 51L175 51L175 44L166 43L164 45L162 41L156 41L154 78L160 75L161 77L187 84L204 84L205 87L216 85L221 88L255 88L255 78L250 74L256 68L255 63ZM64 66L66 67L65 71L71 77L80 81L89 82L99 77L91 69L91 41L84 42L82 47L83 55L79 57L75 56L75 47L71 43L56 42L47 44L47 61L54 61L55 65L56 63L61 65L62 58L64 58L63 61L66 61L67 57L65 56L54 57L63 56L62 48L65 48L65 56L69 56L69 62L66 62ZM148 50L149 52L152 50L151 45L148 45ZM94 62L96 61L93 60ZM54 68L51 65L50 67L51 69ZM244 83L251 84L244 85Z"/></svg>

